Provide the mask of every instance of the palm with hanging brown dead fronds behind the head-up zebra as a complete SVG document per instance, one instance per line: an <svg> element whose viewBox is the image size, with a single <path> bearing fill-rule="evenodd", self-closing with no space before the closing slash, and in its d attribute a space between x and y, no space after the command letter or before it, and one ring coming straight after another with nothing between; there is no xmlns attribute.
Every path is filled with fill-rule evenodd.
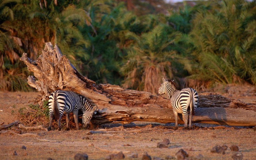
<svg viewBox="0 0 256 160"><path fill-rule="evenodd" d="M171 44L178 33L166 25L158 25L141 36L129 33L133 40L126 63L122 66L124 88L156 93L162 76L175 78L172 62L180 58Z"/></svg>

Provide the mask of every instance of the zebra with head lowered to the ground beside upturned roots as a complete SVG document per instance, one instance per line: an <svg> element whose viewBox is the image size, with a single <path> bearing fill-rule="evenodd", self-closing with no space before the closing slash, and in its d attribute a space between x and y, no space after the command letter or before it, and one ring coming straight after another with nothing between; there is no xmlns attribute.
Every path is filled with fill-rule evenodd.
<svg viewBox="0 0 256 160"><path fill-rule="evenodd" d="M58 119L58 127L59 131L61 130L60 127L60 119L63 114L66 114L66 123L67 123L67 130L69 126L69 113L73 112L76 129L79 130L78 126L78 110L82 110L83 116L83 126L86 127L92 116L94 111L96 110L96 106L92 108L91 104L86 100L82 95L76 94L75 92L71 91L61 91L57 90L51 93L49 96L49 116L50 116L50 124L48 130L52 128L52 119L53 114L55 119Z"/></svg>

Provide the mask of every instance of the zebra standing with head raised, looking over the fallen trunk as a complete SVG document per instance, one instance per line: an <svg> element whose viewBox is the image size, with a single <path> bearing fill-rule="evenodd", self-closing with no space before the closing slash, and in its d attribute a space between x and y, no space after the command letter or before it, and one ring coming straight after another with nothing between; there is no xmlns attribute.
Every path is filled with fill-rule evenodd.
<svg viewBox="0 0 256 160"><path fill-rule="evenodd" d="M172 80L166 81L163 77L163 83L158 89L157 95L162 94L167 94L171 100L172 110L175 118L174 129L178 129L178 113L182 114L184 129L188 129L188 110L190 110L189 129L192 129L192 118L195 114L195 109L198 106L197 92L193 88L184 88L181 91L178 91Z"/></svg>

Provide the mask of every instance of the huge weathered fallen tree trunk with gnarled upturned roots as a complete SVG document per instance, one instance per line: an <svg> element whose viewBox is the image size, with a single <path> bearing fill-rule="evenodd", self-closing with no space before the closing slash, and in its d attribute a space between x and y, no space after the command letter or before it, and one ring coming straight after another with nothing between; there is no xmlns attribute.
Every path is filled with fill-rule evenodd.
<svg viewBox="0 0 256 160"><path fill-rule="evenodd" d="M174 122L169 99L154 96L149 92L123 89L117 85L96 85L72 66L57 45L52 48L51 43L46 43L42 55L36 61L30 60L26 53L23 53L20 60L37 78L35 80L34 76L28 77L28 84L41 93L35 100L37 102L47 100L54 90L69 90L84 95L92 105L97 106L98 113L92 119L94 124L127 124L133 121ZM202 93L199 94L199 105L193 122L255 126L255 119L256 104L247 104L216 93Z"/></svg>

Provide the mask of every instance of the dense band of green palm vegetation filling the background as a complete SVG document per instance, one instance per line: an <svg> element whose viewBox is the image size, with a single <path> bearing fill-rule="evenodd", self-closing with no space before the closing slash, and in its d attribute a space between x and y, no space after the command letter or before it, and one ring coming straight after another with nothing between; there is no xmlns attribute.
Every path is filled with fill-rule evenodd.
<svg viewBox="0 0 256 160"><path fill-rule="evenodd" d="M30 91L23 52L45 42L96 83L155 93L180 86L256 84L256 1L0 0L0 90ZM191 5L195 4L195 5Z"/></svg>

